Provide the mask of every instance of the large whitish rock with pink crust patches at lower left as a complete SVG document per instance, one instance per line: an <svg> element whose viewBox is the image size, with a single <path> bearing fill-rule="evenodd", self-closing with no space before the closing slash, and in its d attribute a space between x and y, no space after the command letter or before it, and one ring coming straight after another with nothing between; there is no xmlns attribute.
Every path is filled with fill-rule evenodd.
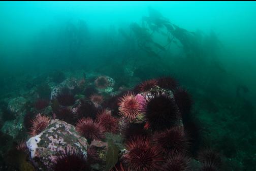
<svg viewBox="0 0 256 171"><path fill-rule="evenodd" d="M56 162L56 153L66 148L76 149L87 156L87 140L80 136L73 125L60 120L52 120L40 134L26 142L30 159L41 170L52 170Z"/></svg>

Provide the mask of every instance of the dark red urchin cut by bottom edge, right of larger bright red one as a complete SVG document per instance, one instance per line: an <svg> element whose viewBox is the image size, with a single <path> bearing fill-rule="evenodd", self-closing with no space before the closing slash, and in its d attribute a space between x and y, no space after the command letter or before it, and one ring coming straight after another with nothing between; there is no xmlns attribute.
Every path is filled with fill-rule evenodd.
<svg viewBox="0 0 256 171"><path fill-rule="evenodd" d="M172 153L167 157L164 170L188 171L190 170L190 158L184 153Z"/></svg>

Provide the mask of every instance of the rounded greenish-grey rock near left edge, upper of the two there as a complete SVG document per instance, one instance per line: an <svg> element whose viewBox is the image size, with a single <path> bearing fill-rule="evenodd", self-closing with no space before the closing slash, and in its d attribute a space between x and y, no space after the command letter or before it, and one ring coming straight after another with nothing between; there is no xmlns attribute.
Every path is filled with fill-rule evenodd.
<svg viewBox="0 0 256 171"><path fill-rule="evenodd" d="M24 111L26 103L27 100L24 97L12 98L8 102L8 110L17 117Z"/></svg>

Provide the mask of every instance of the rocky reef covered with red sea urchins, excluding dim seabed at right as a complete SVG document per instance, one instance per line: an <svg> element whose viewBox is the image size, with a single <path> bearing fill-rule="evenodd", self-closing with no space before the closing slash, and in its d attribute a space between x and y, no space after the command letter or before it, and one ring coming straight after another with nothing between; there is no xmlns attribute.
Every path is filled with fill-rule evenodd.
<svg viewBox="0 0 256 171"><path fill-rule="evenodd" d="M131 88L115 87L114 79L94 73L59 83L47 80L50 93L31 89L9 100L8 111L16 119L2 127L14 140L22 136L16 150L25 154L29 169L221 168L221 157L202 148L200 130L191 126L197 126L193 99L173 78ZM28 105L29 100L36 102Z"/></svg>

